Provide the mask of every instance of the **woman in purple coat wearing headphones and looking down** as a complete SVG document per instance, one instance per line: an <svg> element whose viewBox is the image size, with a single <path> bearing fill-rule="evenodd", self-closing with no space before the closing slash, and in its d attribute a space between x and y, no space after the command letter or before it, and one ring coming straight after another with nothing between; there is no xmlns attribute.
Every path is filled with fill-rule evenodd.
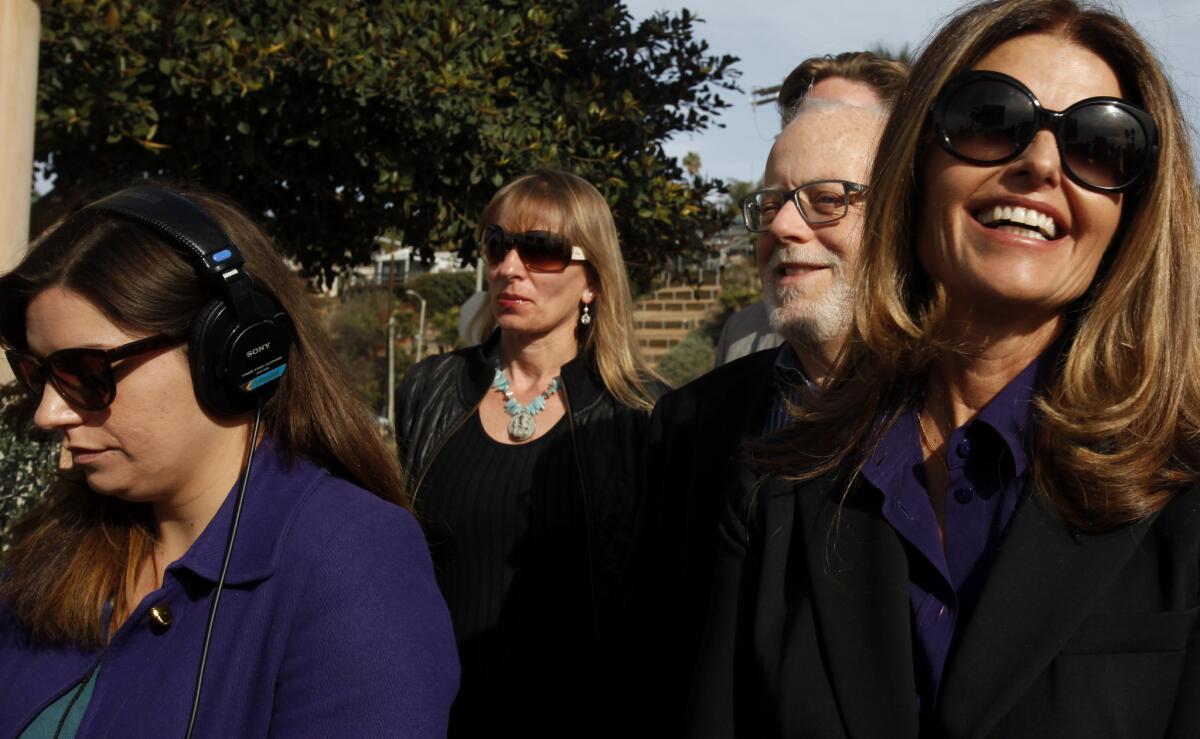
<svg viewBox="0 0 1200 739"><path fill-rule="evenodd" d="M0 342L72 458L4 554L0 735L445 734L401 470L244 212L73 214L0 278Z"/></svg>

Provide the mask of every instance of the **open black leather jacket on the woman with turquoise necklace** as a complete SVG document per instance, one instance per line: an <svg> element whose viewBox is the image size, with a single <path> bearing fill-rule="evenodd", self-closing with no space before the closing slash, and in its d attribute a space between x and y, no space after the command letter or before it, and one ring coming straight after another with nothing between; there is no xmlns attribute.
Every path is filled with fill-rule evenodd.
<svg viewBox="0 0 1200 739"><path fill-rule="evenodd" d="M484 344L422 360L396 391L396 439L414 507L421 483L445 441L479 410L499 361L499 331ZM649 411L618 403L588 356L563 365L559 397L568 410L570 453L582 495L590 565L592 621L598 638L626 606L632 543L642 497L638 491ZM650 383L656 396L662 385Z"/></svg>

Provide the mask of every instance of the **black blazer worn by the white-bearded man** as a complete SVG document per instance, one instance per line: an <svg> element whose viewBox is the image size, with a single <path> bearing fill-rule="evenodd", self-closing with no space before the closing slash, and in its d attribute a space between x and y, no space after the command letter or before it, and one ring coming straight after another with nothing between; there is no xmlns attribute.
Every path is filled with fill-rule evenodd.
<svg viewBox="0 0 1200 739"><path fill-rule="evenodd" d="M708 608L716 522L743 469L742 446L762 434L775 397L778 348L756 352L659 398L650 416L644 483L652 572L640 599L648 641L642 690L653 719L641 735L679 735Z"/></svg>

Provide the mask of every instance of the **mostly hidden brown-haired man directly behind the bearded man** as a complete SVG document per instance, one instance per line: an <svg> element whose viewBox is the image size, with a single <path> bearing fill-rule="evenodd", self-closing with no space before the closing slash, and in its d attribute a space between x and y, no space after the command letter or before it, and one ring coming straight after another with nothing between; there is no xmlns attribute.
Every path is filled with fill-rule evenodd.
<svg viewBox="0 0 1200 739"><path fill-rule="evenodd" d="M851 106L890 107L907 77L907 65L871 52L842 52L805 59L788 73L779 88L776 106L780 126L786 127L804 101L810 98ZM720 367L781 343L784 337L772 329L767 306L758 300L725 322L716 342L714 366Z"/></svg>

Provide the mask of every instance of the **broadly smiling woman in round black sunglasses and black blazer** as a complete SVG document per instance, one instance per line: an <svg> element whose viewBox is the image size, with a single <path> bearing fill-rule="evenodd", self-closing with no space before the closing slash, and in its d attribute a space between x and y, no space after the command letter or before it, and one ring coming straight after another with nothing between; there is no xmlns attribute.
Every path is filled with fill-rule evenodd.
<svg viewBox="0 0 1200 739"><path fill-rule="evenodd" d="M1200 735L1200 204L1121 18L961 11L853 329L722 521L695 735Z"/></svg>

